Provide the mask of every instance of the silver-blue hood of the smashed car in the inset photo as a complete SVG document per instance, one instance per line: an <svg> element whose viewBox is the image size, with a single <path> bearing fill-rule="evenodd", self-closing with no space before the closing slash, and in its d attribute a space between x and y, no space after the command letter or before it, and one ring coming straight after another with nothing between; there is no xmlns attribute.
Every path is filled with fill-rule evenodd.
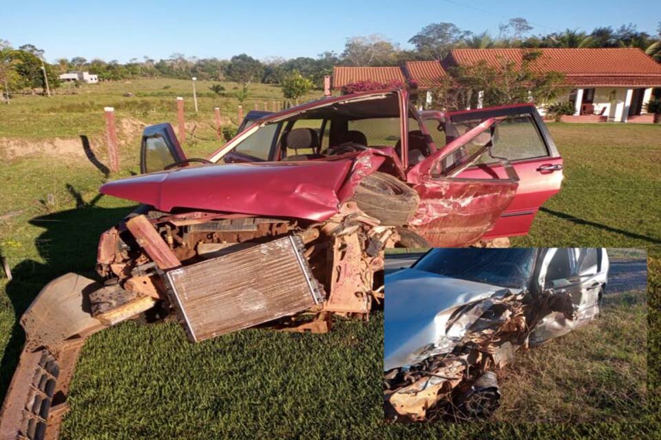
<svg viewBox="0 0 661 440"><path fill-rule="evenodd" d="M384 371L422 360L419 351L445 337L453 309L502 290L416 269L386 276Z"/></svg>

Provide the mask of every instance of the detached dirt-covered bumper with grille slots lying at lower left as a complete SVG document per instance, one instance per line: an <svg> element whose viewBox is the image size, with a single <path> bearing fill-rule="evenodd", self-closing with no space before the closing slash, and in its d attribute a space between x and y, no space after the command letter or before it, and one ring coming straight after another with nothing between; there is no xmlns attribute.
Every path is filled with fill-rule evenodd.
<svg viewBox="0 0 661 440"><path fill-rule="evenodd" d="M25 314L25 346L0 412L0 439L56 439L85 338L105 326L85 311L98 285L65 274L46 285Z"/></svg>

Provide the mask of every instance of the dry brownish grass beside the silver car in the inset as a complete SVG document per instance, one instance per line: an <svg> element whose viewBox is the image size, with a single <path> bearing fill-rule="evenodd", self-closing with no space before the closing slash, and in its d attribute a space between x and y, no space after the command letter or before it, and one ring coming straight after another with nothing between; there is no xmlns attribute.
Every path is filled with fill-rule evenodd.
<svg viewBox="0 0 661 440"><path fill-rule="evenodd" d="M494 421L625 421L647 411L644 292L608 296L602 316L541 347L518 353L499 373Z"/></svg>

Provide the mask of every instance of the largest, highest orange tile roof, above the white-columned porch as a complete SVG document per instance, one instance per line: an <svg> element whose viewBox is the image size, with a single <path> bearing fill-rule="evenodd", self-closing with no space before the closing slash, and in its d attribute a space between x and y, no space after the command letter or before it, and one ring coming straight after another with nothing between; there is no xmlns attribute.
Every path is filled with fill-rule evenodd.
<svg viewBox="0 0 661 440"><path fill-rule="evenodd" d="M565 74L576 86L660 87L661 65L637 48L540 49L542 56L532 63L537 72ZM525 49L454 49L444 60L450 65L474 65L484 60L497 66L503 60L521 65Z"/></svg>

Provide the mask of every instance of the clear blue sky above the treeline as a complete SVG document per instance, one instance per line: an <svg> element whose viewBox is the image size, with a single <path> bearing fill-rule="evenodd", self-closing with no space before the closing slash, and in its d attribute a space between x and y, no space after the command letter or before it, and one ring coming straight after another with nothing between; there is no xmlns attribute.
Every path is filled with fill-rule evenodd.
<svg viewBox="0 0 661 440"><path fill-rule="evenodd" d="M10 2L7 2L10 3ZM449 21L498 34L499 23L524 17L532 33L634 23L655 33L658 0L380 0L380 1L12 1L0 6L0 39L31 43L49 61L317 56L342 52L346 38L381 34L402 47L429 23Z"/></svg>

